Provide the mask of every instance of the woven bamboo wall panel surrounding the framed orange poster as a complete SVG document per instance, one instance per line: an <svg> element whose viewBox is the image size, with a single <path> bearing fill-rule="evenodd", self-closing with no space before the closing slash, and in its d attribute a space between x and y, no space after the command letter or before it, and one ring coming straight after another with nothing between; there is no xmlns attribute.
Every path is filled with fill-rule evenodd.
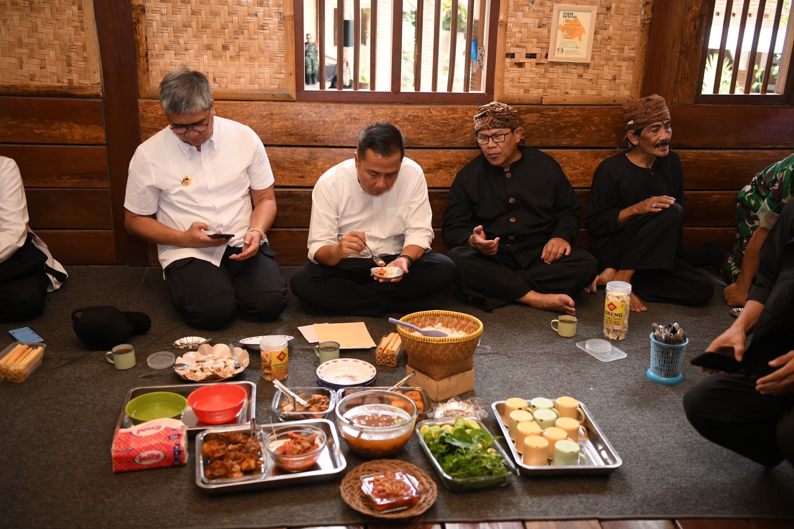
<svg viewBox="0 0 794 529"><path fill-rule="evenodd" d="M504 65L505 100L628 98L638 91L647 45L651 0L575 0L598 6L589 64L546 60L554 12L552 0L511 0ZM530 58L536 54L536 58Z"/></svg>

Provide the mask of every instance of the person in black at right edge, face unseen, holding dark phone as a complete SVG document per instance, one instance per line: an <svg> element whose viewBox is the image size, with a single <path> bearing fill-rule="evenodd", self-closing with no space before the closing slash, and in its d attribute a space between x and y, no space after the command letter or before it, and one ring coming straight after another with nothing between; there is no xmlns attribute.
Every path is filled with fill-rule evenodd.
<svg viewBox="0 0 794 529"><path fill-rule="evenodd" d="M707 348L732 349L744 373L700 381L684 395L684 411L711 442L761 465L794 465L794 201L769 231L759 261L742 314Z"/></svg>

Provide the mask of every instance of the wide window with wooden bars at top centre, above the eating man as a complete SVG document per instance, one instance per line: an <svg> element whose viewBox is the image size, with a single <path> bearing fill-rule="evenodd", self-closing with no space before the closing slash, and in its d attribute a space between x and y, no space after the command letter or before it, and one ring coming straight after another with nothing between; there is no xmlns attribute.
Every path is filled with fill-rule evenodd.
<svg viewBox="0 0 794 529"><path fill-rule="evenodd" d="M499 0L296 0L296 98L490 102L498 17Z"/></svg>

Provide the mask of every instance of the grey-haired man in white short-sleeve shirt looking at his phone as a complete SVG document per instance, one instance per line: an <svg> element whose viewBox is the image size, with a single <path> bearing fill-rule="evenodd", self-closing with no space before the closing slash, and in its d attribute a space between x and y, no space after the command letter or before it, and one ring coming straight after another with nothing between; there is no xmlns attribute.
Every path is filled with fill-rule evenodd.
<svg viewBox="0 0 794 529"><path fill-rule="evenodd" d="M191 325L217 329L237 311L276 318L287 281L265 235L276 195L262 141L215 116L201 72L166 75L160 106L168 127L129 163L127 230L156 243L174 305Z"/></svg>

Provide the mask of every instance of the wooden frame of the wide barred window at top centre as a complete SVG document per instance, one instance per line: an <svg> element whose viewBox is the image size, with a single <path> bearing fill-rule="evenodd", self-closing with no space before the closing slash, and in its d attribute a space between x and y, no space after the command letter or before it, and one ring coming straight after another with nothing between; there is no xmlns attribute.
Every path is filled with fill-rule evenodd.
<svg viewBox="0 0 794 529"><path fill-rule="evenodd" d="M459 0L463 1L463 0ZM303 78L305 69L303 64L303 0L295 0L295 100L304 102L408 102L408 103L488 103L494 99L494 79L496 72L496 45L499 34L499 4L505 0L490 0L488 10L488 42L486 43L485 64L485 91L468 92L417 92L400 91L399 60L395 66L395 43L402 40L402 31L395 30L391 33L391 91L369 90L306 90ZM399 6L402 21L403 0L393 0L393 11L397 12ZM392 23L394 17L392 16ZM402 29L402 26L399 26ZM399 48L398 48L399 50ZM399 57L399 53L397 55ZM323 60L323 63L325 61ZM321 64L321 72L324 64ZM396 80L395 80L396 79Z"/></svg>

